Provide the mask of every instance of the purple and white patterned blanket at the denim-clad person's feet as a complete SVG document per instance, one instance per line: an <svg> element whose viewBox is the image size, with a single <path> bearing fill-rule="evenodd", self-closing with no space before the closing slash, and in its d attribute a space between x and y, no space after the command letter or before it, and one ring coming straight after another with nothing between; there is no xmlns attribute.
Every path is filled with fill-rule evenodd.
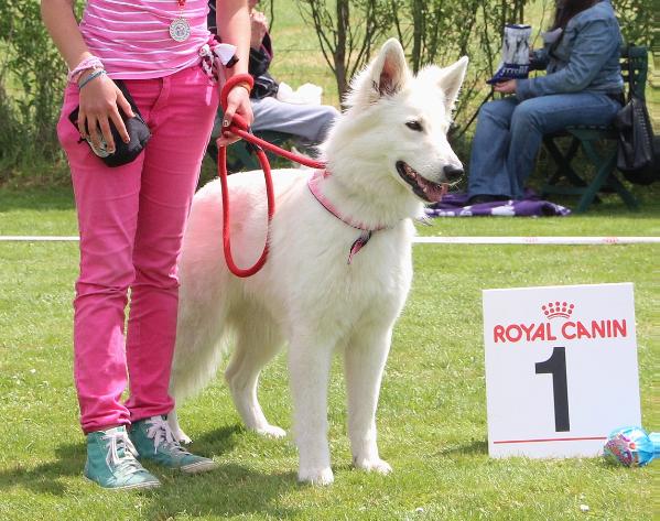
<svg viewBox="0 0 660 521"><path fill-rule="evenodd" d="M468 205L467 194L455 192L446 194L440 203L434 203L426 207L426 215L429 217L547 217L570 214L571 210L569 208L543 200L529 188L524 192L524 198L520 200L498 200L496 203Z"/></svg>

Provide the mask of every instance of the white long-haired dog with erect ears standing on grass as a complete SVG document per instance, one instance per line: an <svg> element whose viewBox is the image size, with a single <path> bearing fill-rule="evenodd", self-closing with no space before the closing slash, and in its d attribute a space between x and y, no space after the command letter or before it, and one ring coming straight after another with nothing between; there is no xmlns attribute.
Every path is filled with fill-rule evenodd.
<svg viewBox="0 0 660 521"><path fill-rule="evenodd" d="M181 402L205 386L231 345L225 377L246 426L284 436L264 417L257 382L288 344L301 481L333 481L326 394L335 349L345 356L353 463L391 470L376 443L380 381L412 279L412 218L463 172L446 132L466 66L463 57L412 77L401 45L388 41L351 84L348 109L323 146L327 170L274 172L270 253L249 279L232 275L224 260L219 182L195 195L180 269L172 394ZM230 176L229 194L235 260L248 267L266 240L261 173ZM174 412L170 423L188 441Z"/></svg>

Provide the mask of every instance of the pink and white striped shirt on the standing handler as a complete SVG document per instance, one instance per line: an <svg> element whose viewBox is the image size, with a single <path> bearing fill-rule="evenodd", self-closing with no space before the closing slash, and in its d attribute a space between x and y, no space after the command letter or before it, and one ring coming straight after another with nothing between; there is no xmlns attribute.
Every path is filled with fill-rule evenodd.
<svg viewBox="0 0 660 521"><path fill-rule="evenodd" d="M191 25L185 42L170 36L180 12ZM186 0L183 11L176 0L88 0L80 32L111 78L160 78L199 62L207 13L207 0Z"/></svg>

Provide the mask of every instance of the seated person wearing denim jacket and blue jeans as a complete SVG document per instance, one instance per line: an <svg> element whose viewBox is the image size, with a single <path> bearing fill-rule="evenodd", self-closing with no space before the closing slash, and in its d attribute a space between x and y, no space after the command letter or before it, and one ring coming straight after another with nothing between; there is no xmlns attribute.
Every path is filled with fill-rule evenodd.
<svg viewBox="0 0 660 521"><path fill-rule="evenodd" d="M469 203L523 196L543 134L571 124L608 124L621 108L623 39L608 0L556 0L544 46L532 55L545 76L495 86L511 94L482 107L472 143Z"/></svg>

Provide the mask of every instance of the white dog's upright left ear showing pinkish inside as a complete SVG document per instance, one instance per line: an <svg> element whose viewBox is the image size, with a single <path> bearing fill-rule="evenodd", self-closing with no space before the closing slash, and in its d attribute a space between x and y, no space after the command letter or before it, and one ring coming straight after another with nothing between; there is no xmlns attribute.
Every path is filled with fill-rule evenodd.
<svg viewBox="0 0 660 521"><path fill-rule="evenodd" d="M348 105L376 104L383 96L392 96L403 88L410 78L403 47L396 39L388 40L378 56L355 78Z"/></svg>

